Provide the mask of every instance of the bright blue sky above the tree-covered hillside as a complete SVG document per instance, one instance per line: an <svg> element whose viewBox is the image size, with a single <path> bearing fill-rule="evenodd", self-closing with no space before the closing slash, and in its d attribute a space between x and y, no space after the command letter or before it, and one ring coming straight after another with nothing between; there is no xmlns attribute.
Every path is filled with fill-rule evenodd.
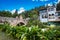
<svg viewBox="0 0 60 40"><path fill-rule="evenodd" d="M57 0L0 0L0 10L13 10L23 7L25 10L57 2Z"/></svg>

